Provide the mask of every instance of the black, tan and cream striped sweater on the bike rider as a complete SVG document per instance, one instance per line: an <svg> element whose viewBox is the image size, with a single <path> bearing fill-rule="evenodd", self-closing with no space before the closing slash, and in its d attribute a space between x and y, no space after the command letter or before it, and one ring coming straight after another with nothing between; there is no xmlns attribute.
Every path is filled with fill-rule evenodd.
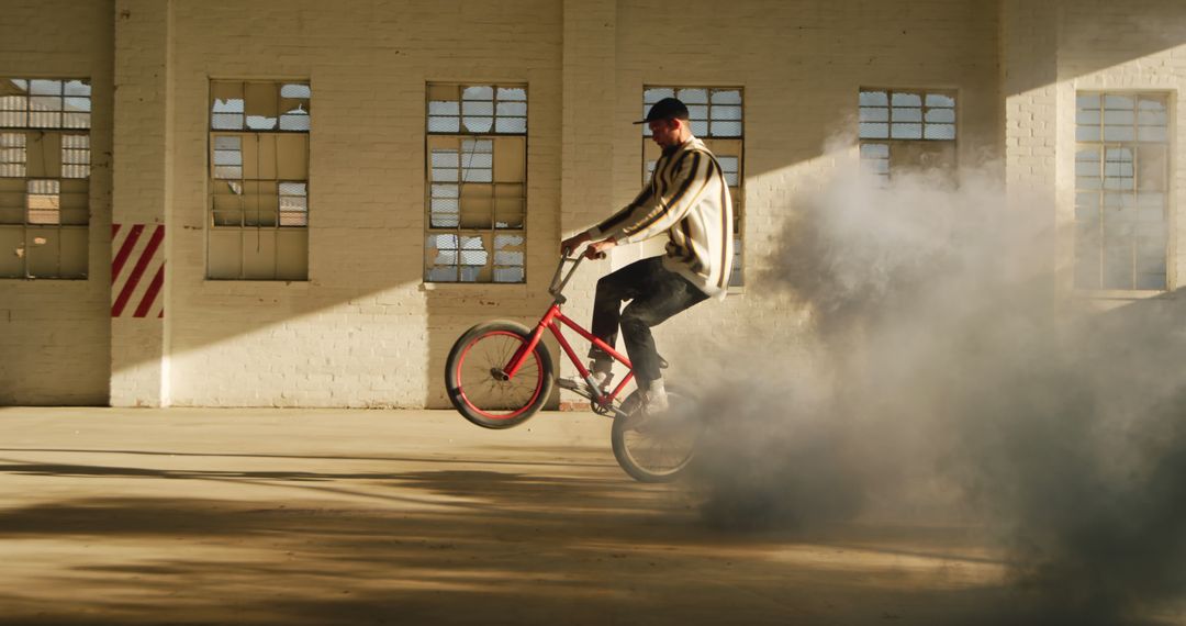
<svg viewBox="0 0 1186 626"><path fill-rule="evenodd" d="M663 151L635 202L588 235L637 243L664 231L663 267L709 296L723 298L733 269L733 200L720 164L696 138Z"/></svg>

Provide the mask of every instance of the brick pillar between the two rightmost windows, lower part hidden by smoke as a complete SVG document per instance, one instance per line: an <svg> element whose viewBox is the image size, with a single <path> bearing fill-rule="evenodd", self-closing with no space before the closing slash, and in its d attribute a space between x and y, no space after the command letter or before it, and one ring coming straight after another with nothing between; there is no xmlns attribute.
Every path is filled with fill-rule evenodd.
<svg viewBox="0 0 1186 626"><path fill-rule="evenodd" d="M1071 242L1058 224L1059 2L1001 2L1005 180L1009 206L1034 212L1051 235L1051 263L1067 267Z"/></svg>

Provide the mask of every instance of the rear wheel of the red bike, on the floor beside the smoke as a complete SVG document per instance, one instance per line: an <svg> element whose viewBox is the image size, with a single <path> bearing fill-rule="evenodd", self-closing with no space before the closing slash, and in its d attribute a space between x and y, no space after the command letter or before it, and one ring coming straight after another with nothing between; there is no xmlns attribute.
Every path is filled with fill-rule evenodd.
<svg viewBox="0 0 1186 626"><path fill-rule="evenodd" d="M639 394L639 391L635 391ZM618 465L640 483L675 480L691 464L704 422L696 402L678 389L668 389L670 408L659 415L630 415L613 420L611 442ZM623 404L632 403L630 398Z"/></svg>

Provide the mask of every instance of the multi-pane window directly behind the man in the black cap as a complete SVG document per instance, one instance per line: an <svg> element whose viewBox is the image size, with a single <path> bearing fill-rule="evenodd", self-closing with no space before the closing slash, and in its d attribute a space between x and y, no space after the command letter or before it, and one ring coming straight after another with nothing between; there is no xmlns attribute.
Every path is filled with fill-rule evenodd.
<svg viewBox="0 0 1186 626"><path fill-rule="evenodd" d="M744 285L745 255L742 234L745 229L745 175L742 172L745 136L742 133L741 89L707 87L646 87L643 89L643 117L651 104L676 97L688 106L691 134L701 139L716 156L725 171L725 180L733 197L733 275L731 287ZM650 140L651 129L643 126L643 184L650 180L662 151Z"/></svg>

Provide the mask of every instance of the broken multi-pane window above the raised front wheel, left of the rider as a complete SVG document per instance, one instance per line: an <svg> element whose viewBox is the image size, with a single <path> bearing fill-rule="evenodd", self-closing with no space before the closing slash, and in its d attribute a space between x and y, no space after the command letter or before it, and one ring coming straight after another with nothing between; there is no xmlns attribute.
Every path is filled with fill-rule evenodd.
<svg viewBox="0 0 1186 626"><path fill-rule="evenodd" d="M524 282L527 88L429 84L425 282Z"/></svg>

